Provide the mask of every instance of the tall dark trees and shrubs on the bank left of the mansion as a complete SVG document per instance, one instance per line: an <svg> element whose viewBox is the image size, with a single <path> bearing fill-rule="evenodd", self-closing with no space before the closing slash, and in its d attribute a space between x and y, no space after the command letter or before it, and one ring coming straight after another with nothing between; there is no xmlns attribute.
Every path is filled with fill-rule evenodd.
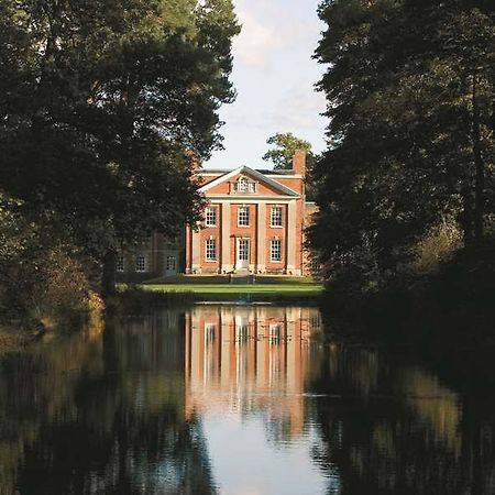
<svg viewBox="0 0 495 495"><path fill-rule="evenodd" d="M239 30L231 0L0 0L2 316L85 306L198 219Z"/></svg>

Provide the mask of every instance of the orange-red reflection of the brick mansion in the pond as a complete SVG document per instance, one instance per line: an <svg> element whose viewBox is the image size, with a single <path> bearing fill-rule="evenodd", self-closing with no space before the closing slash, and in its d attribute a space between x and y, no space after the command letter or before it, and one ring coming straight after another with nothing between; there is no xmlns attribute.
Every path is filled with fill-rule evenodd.
<svg viewBox="0 0 495 495"><path fill-rule="evenodd" d="M196 307L186 315L186 414L262 410L298 433L307 339L319 327L316 308Z"/></svg>

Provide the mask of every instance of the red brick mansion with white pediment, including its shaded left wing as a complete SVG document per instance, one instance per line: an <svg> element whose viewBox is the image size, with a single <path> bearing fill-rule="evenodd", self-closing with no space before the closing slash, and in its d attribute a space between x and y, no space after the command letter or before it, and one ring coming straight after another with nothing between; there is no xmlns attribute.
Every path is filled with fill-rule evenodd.
<svg viewBox="0 0 495 495"><path fill-rule="evenodd" d="M198 170L208 200L198 229L186 228L178 244L153 235L138 253L119 257L118 272L305 275L304 229L315 209L305 200L305 153L296 152L287 170Z"/></svg>

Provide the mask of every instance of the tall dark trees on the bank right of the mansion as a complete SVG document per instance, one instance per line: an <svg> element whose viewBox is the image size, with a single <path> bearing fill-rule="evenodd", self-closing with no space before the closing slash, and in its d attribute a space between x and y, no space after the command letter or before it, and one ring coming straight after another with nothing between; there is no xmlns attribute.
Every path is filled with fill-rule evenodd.
<svg viewBox="0 0 495 495"><path fill-rule="evenodd" d="M329 285L493 287L494 2L327 0L319 15L329 147L310 245Z"/></svg>

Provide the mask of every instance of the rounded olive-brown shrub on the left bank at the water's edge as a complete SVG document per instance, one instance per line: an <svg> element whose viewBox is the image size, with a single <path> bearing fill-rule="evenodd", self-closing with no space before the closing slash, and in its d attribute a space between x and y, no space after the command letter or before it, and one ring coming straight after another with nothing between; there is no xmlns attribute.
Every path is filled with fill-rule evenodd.
<svg viewBox="0 0 495 495"><path fill-rule="evenodd" d="M0 195L0 314L58 319L88 309L80 253L47 216L31 221L20 201Z"/></svg>

